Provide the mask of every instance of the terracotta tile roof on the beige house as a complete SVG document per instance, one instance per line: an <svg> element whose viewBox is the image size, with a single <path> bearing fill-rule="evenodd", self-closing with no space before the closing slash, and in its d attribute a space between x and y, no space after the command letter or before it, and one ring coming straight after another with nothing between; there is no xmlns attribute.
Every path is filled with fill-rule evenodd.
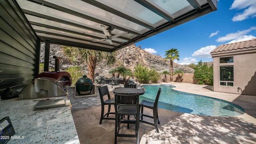
<svg viewBox="0 0 256 144"><path fill-rule="evenodd" d="M212 50L212 53L216 52L224 52L224 51L233 51L233 50L242 50L247 48L256 48L256 38L253 38L252 40L246 40L242 42L235 42L231 44L222 44Z"/></svg>

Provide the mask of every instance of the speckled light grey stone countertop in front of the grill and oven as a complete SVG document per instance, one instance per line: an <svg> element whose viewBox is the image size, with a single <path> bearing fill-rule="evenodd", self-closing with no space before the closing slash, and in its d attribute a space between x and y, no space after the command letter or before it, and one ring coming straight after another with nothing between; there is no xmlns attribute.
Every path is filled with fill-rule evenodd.
<svg viewBox="0 0 256 144"><path fill-rule="evenodd" d="M80 143L69 106L34 110L38 102L34 100L42 98L0 100L0 119L10 117L17 138L8 144Z"/></svg>

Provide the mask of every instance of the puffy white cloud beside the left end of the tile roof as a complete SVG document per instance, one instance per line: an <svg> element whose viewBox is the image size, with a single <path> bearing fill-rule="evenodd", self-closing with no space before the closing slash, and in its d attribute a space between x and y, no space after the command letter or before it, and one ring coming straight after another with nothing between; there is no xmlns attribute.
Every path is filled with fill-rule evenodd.
<svg viewBox="0 0 256 144"><path fill-rule="evenodd" d="M195 51L192 56L194 57L198 57L198 58L212 58L212 55L210 54L210 52L212 52L212 50L214 50L214 48L216 48L217 46L206 46L204 48L200 48L199 50Z"/></svg>

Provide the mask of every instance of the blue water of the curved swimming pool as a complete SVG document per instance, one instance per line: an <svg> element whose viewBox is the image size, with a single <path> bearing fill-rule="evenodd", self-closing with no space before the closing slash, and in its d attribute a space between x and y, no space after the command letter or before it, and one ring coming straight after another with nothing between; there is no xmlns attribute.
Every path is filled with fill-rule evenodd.
<svg viewBox="0 0 256 144"><path fill-rule="evenodd" d="M244 114L244 109L236 104L184 92L172 90L172 85L144 85L145 94L140 96L140 102L147 100L154 102L158 88L162 89L160 93L158 108L183 112L189 114L198 114L206 116L238 116Z"/></svg>

